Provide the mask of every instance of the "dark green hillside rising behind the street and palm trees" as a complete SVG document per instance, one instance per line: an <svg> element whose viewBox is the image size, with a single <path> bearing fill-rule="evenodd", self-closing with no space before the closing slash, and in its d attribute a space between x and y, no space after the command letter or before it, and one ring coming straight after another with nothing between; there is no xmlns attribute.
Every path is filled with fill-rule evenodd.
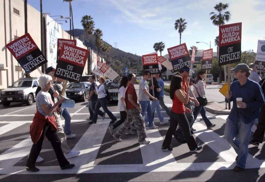
<svg viewBox="0 0 265 182"><path fill-rule="evenodd" d="M70 31L66 31L70 32ZM79 37L80 40L82 35L86 38L87 35L83 29L74 29L74 36ZM88 46L90 47L90 36L88 35ZM92 49L97 51L97 47L95 46L95 36L91 36L92 40ZM87 46L87 41L84 41L85 45ZM103 40L104 44L108 44ZM115 71L120 71L124 72L125 65L128 67L128 69L138 69L141 71L143 69L143 63L142 63L142 57L129 53L129 52L124 52L120 49L116 49L112 47L112 45L108 44L111 47L110 52L102 52L100 50L100 55L105 56L104 59L106 60L106 63L112 67Z"/></svg>

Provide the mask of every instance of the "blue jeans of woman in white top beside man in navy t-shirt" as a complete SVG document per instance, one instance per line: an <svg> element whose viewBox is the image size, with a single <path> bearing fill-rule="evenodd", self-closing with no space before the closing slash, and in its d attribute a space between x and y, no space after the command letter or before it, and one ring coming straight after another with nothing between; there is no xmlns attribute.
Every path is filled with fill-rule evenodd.
<svg viewBox="0 0 265 182"><path fill-rule="evenodd" d="M94 110L94 115L93 115L93 119L92 122L97 123L97 115L99 113L99 109L100 107L103 108L104 112L107 113L107 115L110 117L110 119L112 121L117 120L117 118L112 114L112 112L110 112L110 110L107 108L107 98L103 97L97 100L96 106L95 106L95 110Z"/></svg>

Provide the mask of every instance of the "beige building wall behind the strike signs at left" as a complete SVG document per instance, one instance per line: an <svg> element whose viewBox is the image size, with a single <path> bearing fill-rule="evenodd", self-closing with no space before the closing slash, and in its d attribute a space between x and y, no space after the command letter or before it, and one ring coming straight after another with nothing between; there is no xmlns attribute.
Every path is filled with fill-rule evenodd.
<svg viewBox="0 0 265 182"><path fill-rule="evenodd" d="M4 14L5 3L5 14ZM13 8L20 11L20 16L13 13ZM40 30L40 12L28 4L28 33L31 35L34 42L36 42L39 49L41 49L41 30ZM4 26L4 15L6 20L6 27ZM22 72L15 71L15 65L19 65L16 59L11 55L5 45L14 40L14 36L22 36L25 34L24 29L24 1L23 0L0 0L0 64L4 64L4 69L0 70L0 89L7 88L14 81L22 77ZM45 25L44 25L45 26ZM44 32L45 34L45 32ZM62 30L62 38L70 39L70 35ZM73 39L73 37L72 37ZM86 46L83 46L87 49ZM7 56L6 56L7 55ZM45 55L45 54L44 54ZM88 63L87 63L88 64ZM87 65L84 69L83 75L87 73ZM39 77L40 73L35 70L30 73L31 77Z"/></svg>

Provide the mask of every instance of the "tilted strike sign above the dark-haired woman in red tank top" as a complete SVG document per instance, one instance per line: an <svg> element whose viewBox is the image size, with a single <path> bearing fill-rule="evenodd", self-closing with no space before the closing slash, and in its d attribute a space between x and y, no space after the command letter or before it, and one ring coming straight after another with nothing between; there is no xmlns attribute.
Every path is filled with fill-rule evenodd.
<svg viewBox="0 0 265 182"><path fill-rule="evenodd" d="M168 48L168 55L174 72L180 72L184 66L190 67L191 65L191 58L185 43Z"/></svg>

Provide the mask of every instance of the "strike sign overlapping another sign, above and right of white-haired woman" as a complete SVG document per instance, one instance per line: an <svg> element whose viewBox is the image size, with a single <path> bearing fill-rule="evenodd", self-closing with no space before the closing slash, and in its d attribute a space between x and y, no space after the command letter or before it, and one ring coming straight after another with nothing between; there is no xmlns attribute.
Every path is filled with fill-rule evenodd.
<svg viewBox="0 0 265 182"><path fill-rule="evenodd" d="M80 83L88 53L87 49L63 43L54 76Z"/></svg>

